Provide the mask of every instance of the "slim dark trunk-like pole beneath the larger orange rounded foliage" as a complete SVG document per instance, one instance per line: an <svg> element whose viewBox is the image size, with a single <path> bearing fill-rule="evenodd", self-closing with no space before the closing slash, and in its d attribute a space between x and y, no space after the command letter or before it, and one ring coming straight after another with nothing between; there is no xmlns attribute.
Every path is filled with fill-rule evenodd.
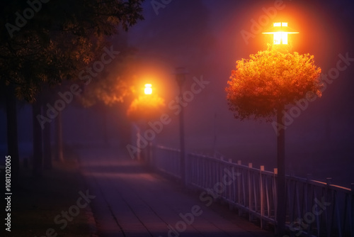
<svg viewBox="0 0 354 237"><path fill-rule="evenodd" d="M285 235L285 216L286 216L286 191L285 191L285 125L284 123L285 106L280 106L277 111L278 136L277 136L277 236Z"/></svg>

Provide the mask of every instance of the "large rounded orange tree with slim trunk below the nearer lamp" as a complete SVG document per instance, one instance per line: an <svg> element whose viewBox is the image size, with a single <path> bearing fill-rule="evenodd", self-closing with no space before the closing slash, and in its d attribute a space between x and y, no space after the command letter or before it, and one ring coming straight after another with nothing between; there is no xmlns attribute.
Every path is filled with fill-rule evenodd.
<svg viewBox="0 0 354 237"><path fill-rule="evenodd" d="M321 97L321 68L314 64L314 56L290 53L287 45L268 46L268 50L250 55L248 60L236 61L236 70L226 88L229 109L234 117L277 117L278 207L277 229L285 231L285 121L287 106L304 97Z"/></svg>

